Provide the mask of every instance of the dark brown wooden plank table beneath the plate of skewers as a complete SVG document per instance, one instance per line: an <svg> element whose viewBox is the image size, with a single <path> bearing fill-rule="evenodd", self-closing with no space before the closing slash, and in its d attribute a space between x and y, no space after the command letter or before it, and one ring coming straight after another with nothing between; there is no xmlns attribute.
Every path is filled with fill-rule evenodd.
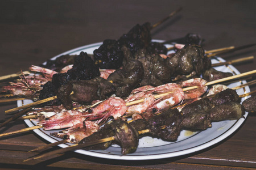
<svg viewBox="0 0 256 170"><path fill-rule="evenodd" d="M255 43L255 1L1 1L0 76L27 70L67 50L118 39L135 24L163 19L183 7L174 18L152 30L152 38L171 40L189 32L199 33L205 49ZM255 47L221 55L226 60L255 55ZM236 65L241 72L254 70L254 62ZM255 76L253 77L255 79ZM256 90L255 86L250 87ZM15 102L0 104L4 111ZM52 159L23 162L35 155L27 152L48 143L27 132L0 139L0 169L251 169L256 168L256 117L250 113L244 124L224 141L205 150L176 158L125 161L93 158L75 152ZM0 133L26 128L11 122ZM55 147L56 149L58 147Z"/></svg>

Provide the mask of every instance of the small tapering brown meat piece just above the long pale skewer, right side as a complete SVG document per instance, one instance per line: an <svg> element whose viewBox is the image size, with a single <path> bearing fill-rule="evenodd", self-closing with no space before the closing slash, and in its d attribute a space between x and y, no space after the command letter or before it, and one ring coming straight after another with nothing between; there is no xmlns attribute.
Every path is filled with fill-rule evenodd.
<svg viewBox="0 0 256 170"><path fill-rule="evenodd" d="M213 80L218 80L222 78L226 78L228 76L232 76L232 73L225 73L222 71L217 71L213 68L210 68L208 70L205 70L203 73L203 78L207 80L208 82L211 82Z"/></svg>

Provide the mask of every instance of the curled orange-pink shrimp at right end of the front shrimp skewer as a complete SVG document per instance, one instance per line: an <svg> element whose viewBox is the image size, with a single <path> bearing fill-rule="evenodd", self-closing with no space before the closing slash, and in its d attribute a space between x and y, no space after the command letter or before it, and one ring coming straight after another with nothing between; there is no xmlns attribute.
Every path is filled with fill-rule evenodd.
<svg viewBox="0 0 256 170"><path fill-rule="evenodd" d="M193 78L189 80L185 80L181 82L181 87L189 87L189 86L198 86L199 88L189 90L185 92L184 100L195 99L196 97L200 97L207 91L207 86L204 86L207 81L201 78Z"/></svg>

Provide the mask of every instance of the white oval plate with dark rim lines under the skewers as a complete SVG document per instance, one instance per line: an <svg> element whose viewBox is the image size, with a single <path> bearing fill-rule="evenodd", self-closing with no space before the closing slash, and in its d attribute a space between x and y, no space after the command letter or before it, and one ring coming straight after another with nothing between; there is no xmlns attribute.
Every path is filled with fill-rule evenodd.
<svg viewBox="0 0 256 170"><path fill-rule="evenodd" d="M155 40L160 41L160 40ZM88 54L93 54L93 50L97 49L102 43L90 44L81 46L79 48L69 50L68 52L63 54L79 54L81 51L87 52ZM169 47L169 46L167 46ZM56 56L56 57L59 57ZM53 57L52 59L55 59ZM216 57L212 59L212 63L223 62L224 59L220 57ZM224 72L231 72L233 74L240 74L239 71L234 68L232 65L219 66L216 67L217 70L221 70ZM232 83L229 85L230 88L239 86L240 84L246 83L245 81ZM250 92L249 87L245 87L237 90L238 95L245 94ZM242 101L245 98L242 99ZM24 104L31 103L31 100L24 100ZM18 101L18 107L22 105L22 101ZM212 128L208 128L204 131L199 131L197 133L192 133L191 131L183 130L181 131L179 138L176 142L165 142L161 139L151 138L151 137L143 137L139 139L139 146L137 151L133 154L122 155L121 148L117 145L113 145L109 147L107 150L76 150L80 154L96 156L98 158L107 158L107 159L119 159L119 160L149 160L149 159L161 159L161 158L170 158L180 155L191 154L196 151L203 150L209 146L212 146L223 139L227 138L229 135L234 133L245 121L247 117L246 113L244 118L240 118L240 120L232 120L232 121L220 121L220 122L212 122ZM25 120L28 126L35 126L37 122ZM57 132L60 130L49 130L44 131L43 129L35 129L34 132L38 134L40 137L46 139L47 141L53 143L60 141L60 138L52 137L49 135L50 133ZM60 147L67 147L72 144L61 144Z"/></svg>

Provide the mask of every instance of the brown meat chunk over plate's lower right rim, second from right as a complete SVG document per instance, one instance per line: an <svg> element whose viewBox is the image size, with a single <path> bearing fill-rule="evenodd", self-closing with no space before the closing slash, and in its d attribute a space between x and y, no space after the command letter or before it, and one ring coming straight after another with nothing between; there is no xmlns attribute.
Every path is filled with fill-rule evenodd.
<svg viewBox="0 0 256 170"><path fill-rule="evenodd" d="M229 101L221 105L216 105L210 110L212 121L237 120L245 114L245 108L240 103Z"/></svg>

